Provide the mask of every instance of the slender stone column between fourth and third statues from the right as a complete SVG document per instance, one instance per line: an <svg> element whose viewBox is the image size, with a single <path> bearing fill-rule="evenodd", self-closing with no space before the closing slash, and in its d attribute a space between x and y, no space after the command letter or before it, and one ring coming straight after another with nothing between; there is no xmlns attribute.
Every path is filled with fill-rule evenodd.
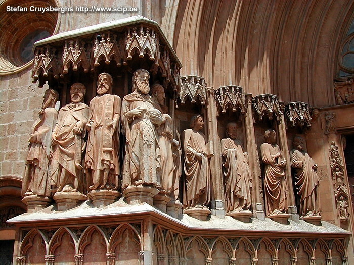
<svg viewBox="0 0 354 265"><path fill-rule="evenodd" d="M208 114L208 133L210 145L213 145L214 156L210 159L211 183L213 185L214 199L211 201L211 214L219 218L225 218L225 192L223 172L221 164L221 150L217 134L215 91L212 87L207 88L206 110ZM211 141L213 144L211 144Z"/></svg>

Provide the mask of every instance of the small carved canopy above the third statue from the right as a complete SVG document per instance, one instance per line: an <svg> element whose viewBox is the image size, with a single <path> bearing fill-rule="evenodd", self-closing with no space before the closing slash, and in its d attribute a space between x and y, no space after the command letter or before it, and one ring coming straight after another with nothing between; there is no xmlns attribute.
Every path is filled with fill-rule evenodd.
<svg viewBox="0 0 354 265"><path fill-rule="evenodd" d="M242 87L240 86L223 86L215 91L216 101L218 102L221 112L226 113L227 108L232 108L233 112L237 109L241 110L241 113L246 113L246 98L242 93Z"/></svg>

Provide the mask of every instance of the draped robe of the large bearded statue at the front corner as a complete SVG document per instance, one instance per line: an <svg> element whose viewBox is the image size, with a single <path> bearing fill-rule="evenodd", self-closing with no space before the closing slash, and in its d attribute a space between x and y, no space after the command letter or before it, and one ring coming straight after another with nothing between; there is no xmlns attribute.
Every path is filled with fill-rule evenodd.
<svg viewBox="0 0 354 265"><path fill-rule="evenodd" d="M143 116L128 118L126 113L137 107L146 109ZM152 122L148 112L160 117L157 124ZM155 108L149 94L136 90L123 98L122 126L126 137L123 189L130 185L160 185L157 180L160 155L156 127L160 126L161 121L162 114Z"/></svg>

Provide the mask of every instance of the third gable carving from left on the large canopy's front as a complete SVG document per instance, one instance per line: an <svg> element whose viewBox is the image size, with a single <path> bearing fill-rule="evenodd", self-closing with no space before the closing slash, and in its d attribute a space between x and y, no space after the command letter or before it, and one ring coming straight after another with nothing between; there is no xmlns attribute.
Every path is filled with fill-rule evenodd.
<svg viewBox="0 0 354 265"><path fill-rule="evenodd" d="M121 66L121 58L123 58L123 52L119 47L123 47L121 42L123 39L119 39L117 34L102 34L97 35L94 44L94 66L99 66L100 61L104 60L107 65L111 63L112 59L115 59L117 66ZM124 60L125 61L125 60Z"/></svg>

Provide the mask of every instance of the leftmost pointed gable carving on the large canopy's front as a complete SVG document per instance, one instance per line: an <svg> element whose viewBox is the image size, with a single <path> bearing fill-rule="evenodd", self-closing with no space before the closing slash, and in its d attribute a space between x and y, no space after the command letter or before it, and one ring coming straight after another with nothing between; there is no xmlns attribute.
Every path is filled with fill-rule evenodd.
<svg viewBox="0 0 354 265"><path fill-rule="evenodd" d="M49 45L36 48L33 60L33 82L39 78L40 73L43 73L44 77L47 77L49 73L53 73L54 78L59 78L60 68L61 60L58 58L56 48Z"/></svg>

